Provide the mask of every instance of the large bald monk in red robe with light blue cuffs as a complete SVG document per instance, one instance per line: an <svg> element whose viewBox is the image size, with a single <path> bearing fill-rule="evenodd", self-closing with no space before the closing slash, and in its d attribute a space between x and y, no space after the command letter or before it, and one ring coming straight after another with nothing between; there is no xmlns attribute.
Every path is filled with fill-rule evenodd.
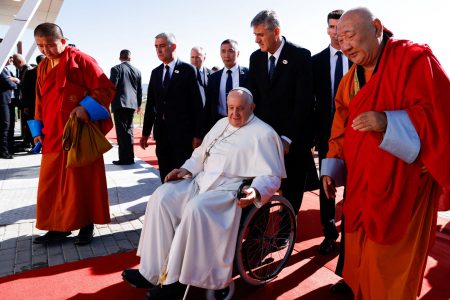
<svg viewBox="0 0 450 300"><path fill-rule="evenodd" d="M354 65L321 175L331 198L346 183L343 277L355 299L416 299L450 189L450 80L427 45L394 39L365 8L337 30Z"/></svg>

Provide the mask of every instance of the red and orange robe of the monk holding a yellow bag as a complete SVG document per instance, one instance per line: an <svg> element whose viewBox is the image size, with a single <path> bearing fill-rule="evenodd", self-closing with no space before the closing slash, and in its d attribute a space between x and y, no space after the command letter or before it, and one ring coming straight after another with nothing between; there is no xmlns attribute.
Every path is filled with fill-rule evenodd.
<svg viewBox="0 0 450 300"><path fill-rule="evenodd" d="M89 95L108 108L115 87L96 61L66 47L59 63L44 59L38 67L36 120L43 123L42 161L37 195L36 227L71 231L88 224L110 222L103 157L79 168L66 168L62 134L70 112ZM111 118L97 121L106 134Z"/></svg>

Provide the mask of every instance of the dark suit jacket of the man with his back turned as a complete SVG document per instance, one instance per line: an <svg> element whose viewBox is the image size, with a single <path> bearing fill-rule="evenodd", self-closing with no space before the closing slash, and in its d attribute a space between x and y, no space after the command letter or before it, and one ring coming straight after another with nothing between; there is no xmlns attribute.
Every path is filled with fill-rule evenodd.
<svg viewBox="0 0 450 300"><path fill-rule="evenodd" d="M116 86L116 95L111 110L120 108L137 109L142 103L141 71L129 62L123 62L111 68L110 80Z"/></svg>

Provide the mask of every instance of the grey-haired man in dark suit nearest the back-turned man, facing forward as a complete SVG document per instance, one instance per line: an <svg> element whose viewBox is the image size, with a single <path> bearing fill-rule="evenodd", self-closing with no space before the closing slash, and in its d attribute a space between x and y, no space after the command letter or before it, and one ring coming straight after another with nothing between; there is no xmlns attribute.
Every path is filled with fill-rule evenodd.
<svg viewBox="0 0 450 300"><path fill-rule="evenodd" d="M176 56L172 33L155 37L156 54L163 63L152 71L147 93L141 147L148 146L153 128L161 181L188 159L201 144L203 104L193 66Z"/></svg>

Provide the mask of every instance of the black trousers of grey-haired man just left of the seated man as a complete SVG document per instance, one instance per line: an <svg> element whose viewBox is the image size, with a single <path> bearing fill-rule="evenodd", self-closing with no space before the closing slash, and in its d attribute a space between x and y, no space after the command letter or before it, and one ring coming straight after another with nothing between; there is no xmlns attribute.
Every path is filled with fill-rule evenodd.
<svg viewBox="0 0 450 300"><path fill-rule="evenodd" d="M192 138L171 137L164 128L160 126L160 133L156 140L156 156L158 157L159 174L161 182L173 169L180 168L192 155Z"/></svg>

